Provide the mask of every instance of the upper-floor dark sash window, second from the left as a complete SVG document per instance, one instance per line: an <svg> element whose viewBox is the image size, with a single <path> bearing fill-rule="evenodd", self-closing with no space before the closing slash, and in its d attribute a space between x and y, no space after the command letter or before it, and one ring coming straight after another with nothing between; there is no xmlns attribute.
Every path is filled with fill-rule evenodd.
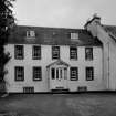
<svg viewBox="0 0 116 116"><path fill-rule="evenodd" d="M32 46L32 60L41 60L41 46Z"/></svg>

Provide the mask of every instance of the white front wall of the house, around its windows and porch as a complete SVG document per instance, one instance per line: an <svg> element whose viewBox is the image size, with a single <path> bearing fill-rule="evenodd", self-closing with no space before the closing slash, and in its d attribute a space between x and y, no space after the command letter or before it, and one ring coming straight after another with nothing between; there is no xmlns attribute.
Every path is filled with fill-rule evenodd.
<svg viewBox="0 0 116 116"><path fill-rule="evenodd" d="M6 52L10 52L11 60L6 65L8 74L6 75L7 91L8 92L23 92L25 86L34 86L35 92L49 92L49 78L46 66L55 60L52 60L52 46L41 45L41 60L32 60L32 44L24 45L24 60L14 60L14 44L6 45ZM71 66L78 67L78 81L70 81L70 72L67 74L67 86L70 91L77 91L78 86L87 86L88 91L104 91L103 86L103 49L102 46L93 46L93 61L85 61L85 46L77 46L77 61L70 60L70 46L60 46L61 60L70 64ZM14 66L24 66L24 81L14 81ZM42 81L33 81L32 67L42 67ZM94 67L94 81L86 81L85 67Z"/></svg>

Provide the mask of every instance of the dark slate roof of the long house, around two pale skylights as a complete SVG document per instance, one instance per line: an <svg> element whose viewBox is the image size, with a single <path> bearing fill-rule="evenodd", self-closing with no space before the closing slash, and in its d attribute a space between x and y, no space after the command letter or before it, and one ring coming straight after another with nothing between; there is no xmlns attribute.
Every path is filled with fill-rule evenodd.
<svg viewBox="0 0 116 116"><path fill-rule="evenodd" d="M27 31L34 31L35 39L27 39ZM78 33L78 40L72 41L71 33ZM15 25L9 36L10 44L49 44L49 45L102 45L84 29L45 28Z"/></svg>

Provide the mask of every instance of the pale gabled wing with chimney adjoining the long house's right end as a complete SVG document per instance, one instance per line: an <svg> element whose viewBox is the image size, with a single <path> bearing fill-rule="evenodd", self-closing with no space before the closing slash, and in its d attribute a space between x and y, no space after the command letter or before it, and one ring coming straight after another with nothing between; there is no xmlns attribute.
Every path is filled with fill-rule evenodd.
<svg viewBox="0 0 116 116"><path fill-rule="evenodd" d="M101 24L101 18L94 18L85 29L103 43L103 78L108 91L116 91L116 27Z"/></svg>

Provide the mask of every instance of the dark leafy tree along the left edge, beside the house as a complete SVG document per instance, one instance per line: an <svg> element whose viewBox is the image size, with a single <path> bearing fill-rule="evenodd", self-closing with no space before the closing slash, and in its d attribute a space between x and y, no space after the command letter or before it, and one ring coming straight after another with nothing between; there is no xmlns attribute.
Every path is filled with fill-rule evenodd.
<svg viewBox="0 0 116 116"><path fill-rule="evenodd" d="M14 24L13 1L15 0L0 0L0 82L4 82L4 65L10 60L9 53L4 53L4 45Z"/></svg>

